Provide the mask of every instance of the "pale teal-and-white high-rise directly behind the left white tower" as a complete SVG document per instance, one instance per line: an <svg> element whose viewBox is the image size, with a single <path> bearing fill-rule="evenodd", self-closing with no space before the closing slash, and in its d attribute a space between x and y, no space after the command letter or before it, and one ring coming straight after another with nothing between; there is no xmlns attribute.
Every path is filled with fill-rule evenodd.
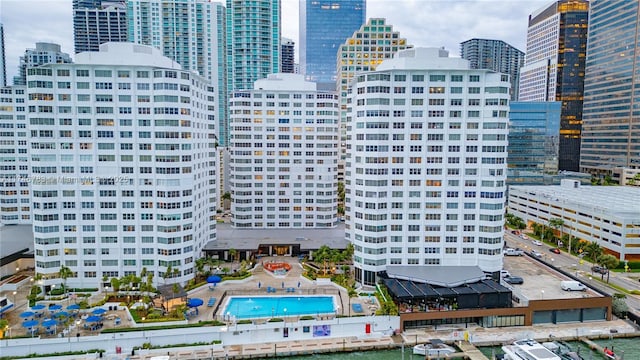
<svg viewBox="0 0 640 360"><path fill-rule="evenodd" d="M162 50L216 88L217 141L225 146L229 129L224 6L209 0L129 0L127 11L130 42Z"/></svg>

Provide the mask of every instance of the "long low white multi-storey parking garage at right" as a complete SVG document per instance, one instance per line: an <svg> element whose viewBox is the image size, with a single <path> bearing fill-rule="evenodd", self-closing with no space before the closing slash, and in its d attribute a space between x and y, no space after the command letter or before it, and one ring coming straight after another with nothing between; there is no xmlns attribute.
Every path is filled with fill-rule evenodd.
<svg viewBox="0 0 640 360"><path fill-rule="evenodd" d="M509 212L529 225L562 219L571 242L595 242L620 260L640 260L640 188L583 186L563 180L554 186L510 186Z"/></svg>

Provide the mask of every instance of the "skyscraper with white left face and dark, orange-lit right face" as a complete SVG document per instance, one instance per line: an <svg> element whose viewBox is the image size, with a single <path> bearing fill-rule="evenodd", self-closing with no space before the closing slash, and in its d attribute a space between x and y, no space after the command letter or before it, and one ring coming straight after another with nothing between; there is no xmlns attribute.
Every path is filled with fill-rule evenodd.
<svg viewBox="0 0 640 360"><path fill-rule="evenodd" d="M560 101L560 170L578 171L582 129L587 0L559 0L529 16L520 101Z"/></svg>

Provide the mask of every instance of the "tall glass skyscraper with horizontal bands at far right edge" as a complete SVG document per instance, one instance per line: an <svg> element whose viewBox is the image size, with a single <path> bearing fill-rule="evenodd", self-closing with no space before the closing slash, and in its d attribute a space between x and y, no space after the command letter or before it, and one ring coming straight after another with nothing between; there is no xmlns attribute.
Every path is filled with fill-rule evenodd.
<svg viewBox="0 0 640 360"><path fill-rule="evenodd" d="M580 168L640 169L638 0L592 0Z"/></svg>

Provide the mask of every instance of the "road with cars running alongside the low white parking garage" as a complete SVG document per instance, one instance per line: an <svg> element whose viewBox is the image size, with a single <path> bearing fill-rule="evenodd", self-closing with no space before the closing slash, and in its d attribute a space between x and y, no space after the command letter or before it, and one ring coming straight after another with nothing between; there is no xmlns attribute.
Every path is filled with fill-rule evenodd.
<svg viewBox="0 0 640 360"><path fill-rule="evenodd" d="M591 272L591 266L593 264L590 262L584 261L583 264L580 264L580 259L578 257L569 255L564 251L560 254L554 254L549 251L549 249L552 248L551 246L544 243L541 246L533 245L530 238L528 240L524 240L521 237L512 234L511 230L505 231L505 241L509 247L519 247L524 249L525 252L530 252L531 249L540 252L542 254L542 259L551 264L551 266L575 274L577 277L582 278L582 282L585 284L589 284L604 293L613 295L619 292L617 289L608 286L606 283L594 279L601 278L602 275ZM640 290L640 282L629 278L627 274L611 272L609 282L627 290ZM626 301L629 306L629 310L640 315L640 296L627 294Z"/></svg>

